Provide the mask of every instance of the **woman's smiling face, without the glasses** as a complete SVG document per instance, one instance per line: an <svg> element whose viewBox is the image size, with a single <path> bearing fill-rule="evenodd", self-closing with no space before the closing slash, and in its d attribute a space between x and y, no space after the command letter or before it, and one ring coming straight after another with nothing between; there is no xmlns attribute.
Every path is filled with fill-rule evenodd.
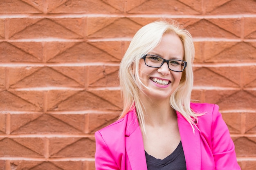
<svg viewBox="0 0 256 170"><path fill-rule="evenodd" d="M157 55L165 60L183 60L184 49L180 38L174 33L165 33L161 42L148 54ZM140 95L151 99L169 100L171 94L180 84L182 72L171 71L165 62L160 68L146 66L143 59L139 61L139 77L141 82L148 87L143 88Z"/></svg>

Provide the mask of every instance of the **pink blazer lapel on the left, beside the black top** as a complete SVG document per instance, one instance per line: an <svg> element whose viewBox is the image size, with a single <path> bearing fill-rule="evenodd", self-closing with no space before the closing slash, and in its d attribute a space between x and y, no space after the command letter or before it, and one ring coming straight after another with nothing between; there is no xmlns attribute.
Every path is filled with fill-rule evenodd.
<svg viewBox="0 0 256 170"><path fill-rule="evenodd" d="M147 170L142 134L135 112L128 115L125 148L132 170Z"/></svg>

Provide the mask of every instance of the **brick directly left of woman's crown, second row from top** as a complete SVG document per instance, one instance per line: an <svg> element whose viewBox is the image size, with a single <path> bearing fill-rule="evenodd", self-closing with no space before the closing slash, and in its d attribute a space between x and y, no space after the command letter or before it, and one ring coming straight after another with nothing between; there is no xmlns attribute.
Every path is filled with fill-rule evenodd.
<svg viewBox="0 0 256 170"><path fill-rule="evenodd" d="M133 37L141 25L129 18L88 18L89 38Z"/></svg>

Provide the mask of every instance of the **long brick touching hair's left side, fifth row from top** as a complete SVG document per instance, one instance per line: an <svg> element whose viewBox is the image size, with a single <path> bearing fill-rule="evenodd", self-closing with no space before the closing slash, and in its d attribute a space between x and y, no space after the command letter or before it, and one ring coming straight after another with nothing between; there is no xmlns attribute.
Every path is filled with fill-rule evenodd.
<svg viewBox="0 0 256 170"><path fill-rule="evenodd" d="M88 91L50 91L48 93L48 109L47 110L119 110L120 96L111 93L100 94ZM108 96L106 96L108 95ZM118 103L115 103L117 101ZM100 105L100 106L99 106Z"/></svg>

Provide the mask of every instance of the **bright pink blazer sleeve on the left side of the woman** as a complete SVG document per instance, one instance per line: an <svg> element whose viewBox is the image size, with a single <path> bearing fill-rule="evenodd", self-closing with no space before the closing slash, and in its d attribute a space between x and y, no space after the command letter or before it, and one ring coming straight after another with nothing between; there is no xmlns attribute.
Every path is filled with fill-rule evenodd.
<svg viewBox="0 0 256 170"><path fill-rule="evenodd" d="M95 132L96 152L95 168L96 170L119 170L106 142L99 131Z"/></svg>

